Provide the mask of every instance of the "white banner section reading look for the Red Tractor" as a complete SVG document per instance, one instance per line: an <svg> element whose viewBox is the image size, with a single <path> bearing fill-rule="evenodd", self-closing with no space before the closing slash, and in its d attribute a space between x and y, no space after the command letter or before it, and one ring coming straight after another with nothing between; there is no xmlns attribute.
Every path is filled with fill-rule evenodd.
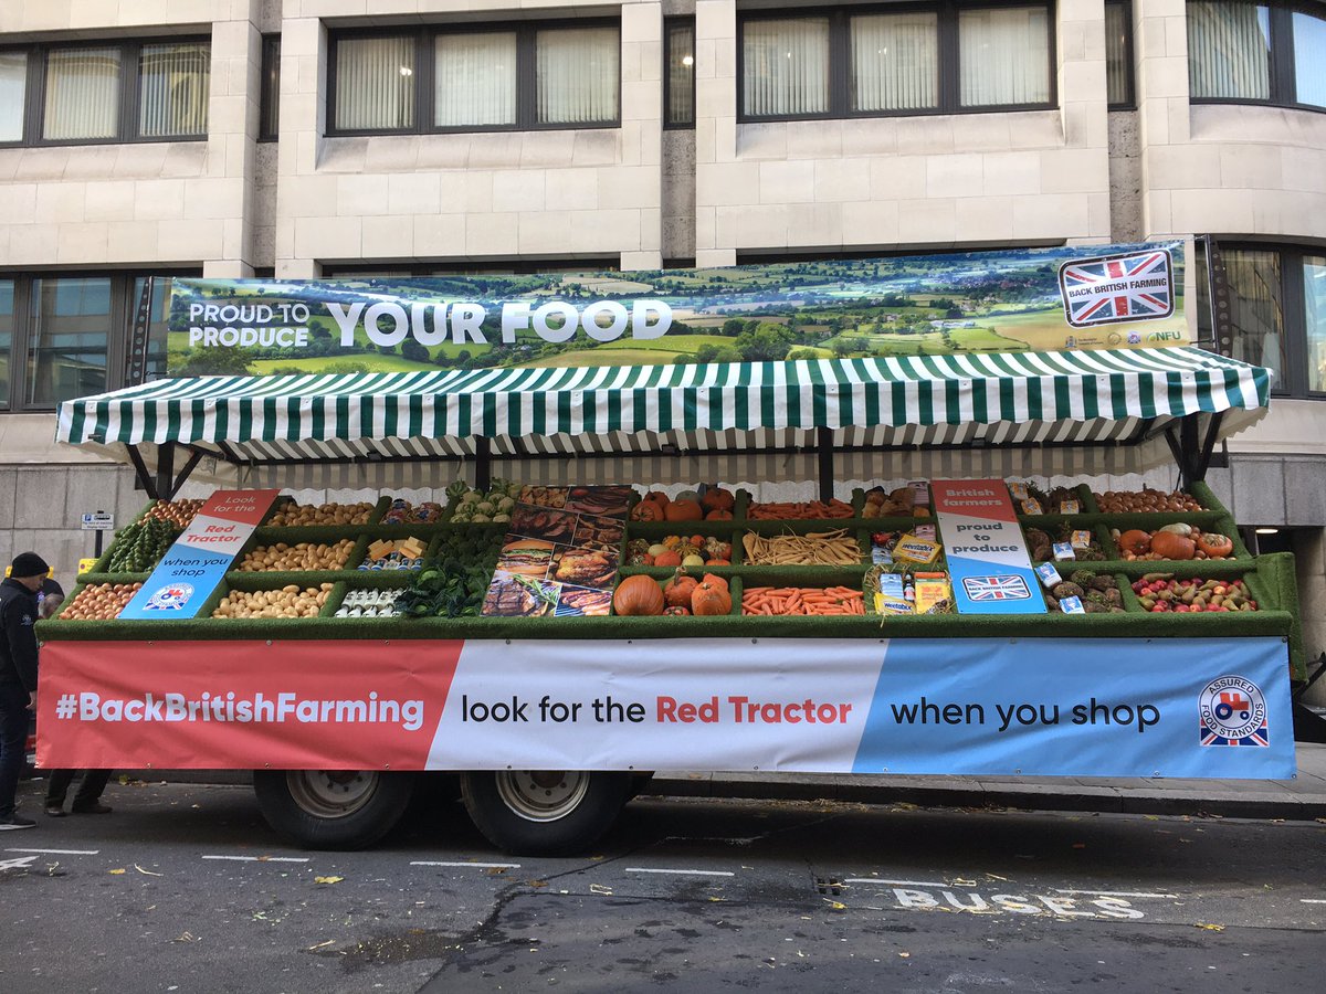
<svg viewBox="0 0 1326 994"><path fill-rule="evenodd" d="M850 773L888 640L566 648L467 641L427 769Z"/></svg>

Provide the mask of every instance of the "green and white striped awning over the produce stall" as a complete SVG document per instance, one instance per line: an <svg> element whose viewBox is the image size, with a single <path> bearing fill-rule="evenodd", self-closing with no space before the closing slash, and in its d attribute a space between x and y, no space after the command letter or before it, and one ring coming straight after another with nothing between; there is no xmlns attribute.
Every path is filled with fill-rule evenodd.
<svg viewBox="0 0 1326 994"><path fill-rule="evenodd" d="M532 478L549 482L546 459L558 456L575 465L552 476L583 482L731 480L733 457L745 460L743 478L796 478L788 456L821 428L845 456L902 453L912 473L918 455L949 473L1138 472L1168 460L1167 423L1224 412L1225 436L1260 417L1269 392L1268 370L1192 347L203 376L61 404L57 437L121 460L139 447L149 463L152 447L180 443L217 460L213 478L235 478L228 464L245 485L354 486L366 467L377 477L365 486L428 485L410 464L472 457L477 439L497 459L542 459ZM664 470L676 453L692 465ZM587 472L590 461L599 469Z"/></svg>

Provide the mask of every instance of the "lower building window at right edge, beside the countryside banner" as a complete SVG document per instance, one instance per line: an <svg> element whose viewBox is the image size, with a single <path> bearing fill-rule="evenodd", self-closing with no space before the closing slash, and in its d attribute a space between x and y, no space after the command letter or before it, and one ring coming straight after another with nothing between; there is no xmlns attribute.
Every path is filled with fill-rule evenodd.
<svg viewBox="0 0 1326 994"><path fill-rule="evenodd" d="M1229 355L1274 370L1277 394L1326 395L1326 256L1268 245L1221 245L1220 256Z"/></svg>

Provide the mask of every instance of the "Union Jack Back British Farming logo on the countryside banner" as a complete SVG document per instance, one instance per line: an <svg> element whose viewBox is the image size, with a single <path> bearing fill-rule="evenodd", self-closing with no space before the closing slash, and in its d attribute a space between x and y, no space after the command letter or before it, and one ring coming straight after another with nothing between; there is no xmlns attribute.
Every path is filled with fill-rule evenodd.
<svg viewBox="0 0 1326 994"><path fill-rule="evenodd" d="M1174 261L1168 249L1059 266L1063 317L1073 327L1155 321L1174 314Z"/></svg>

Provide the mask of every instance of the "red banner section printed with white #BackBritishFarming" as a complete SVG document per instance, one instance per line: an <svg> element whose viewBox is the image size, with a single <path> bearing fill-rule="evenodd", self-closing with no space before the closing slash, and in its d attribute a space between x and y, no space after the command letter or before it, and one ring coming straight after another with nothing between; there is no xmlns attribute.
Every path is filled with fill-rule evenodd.
<svg viewBox="0 0 1326 994"><path fill-rule="evenodd" d="M463 645L46 643L37 763L422 770Z"/></svg>

